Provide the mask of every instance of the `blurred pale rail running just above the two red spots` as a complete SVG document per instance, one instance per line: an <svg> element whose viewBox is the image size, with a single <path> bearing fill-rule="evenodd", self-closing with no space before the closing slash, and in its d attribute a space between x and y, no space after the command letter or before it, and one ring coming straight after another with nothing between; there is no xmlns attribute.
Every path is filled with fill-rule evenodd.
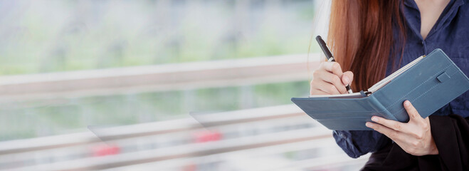
<svg viewBox="0 0 469 171"><path fill-rule="evenodd" d="M306 114L295 105L278 105L265 108L236 110L225 113L204 114L201 117L196 116L196 120L186 118L180 120L168 120L154 123L141 123L113 128L95 129L93 130L95 133L85 132L54 135L43 138L4 141L0 142L0 155L83 145L90 142L100 142L101 139L118 140L122 138L141 137L163 133L176 133L179 131L203 128L202 125L205 127L212 127L217 125L246 123L276 118L288 118L299 115ZM99 138L97 137L97 134Z"/></svg>

